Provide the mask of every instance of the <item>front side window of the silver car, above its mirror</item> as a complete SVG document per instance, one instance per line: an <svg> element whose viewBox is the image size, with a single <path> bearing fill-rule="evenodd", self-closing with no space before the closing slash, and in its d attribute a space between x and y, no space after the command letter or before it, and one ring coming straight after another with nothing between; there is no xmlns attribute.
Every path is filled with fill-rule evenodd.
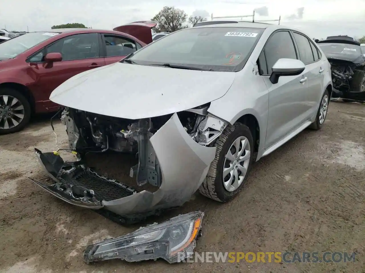
<svg viewBox="0 0 365 273"><path fill-rule="evenodd" d="M265 73L265 71L261 71L264 72L263 75L271 74L272 67L278 59L297 59L295 47L290 33L288 31L279 31L274 33L265 45L264 55L266 58L267 73ZM264 67L265 66L262 65L260 70L266 69Z"/></svg>

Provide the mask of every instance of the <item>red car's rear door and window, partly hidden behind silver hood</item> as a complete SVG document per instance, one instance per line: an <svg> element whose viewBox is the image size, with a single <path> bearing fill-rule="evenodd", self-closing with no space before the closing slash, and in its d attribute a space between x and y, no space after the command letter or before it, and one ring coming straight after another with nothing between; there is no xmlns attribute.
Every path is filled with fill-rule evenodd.
<svg viewBox="0 0 365 273"><path fill-rule="evenodd" d="M115 34L102 34L105 64L119 62L125 56L139 50L142 46L136 41Z"/></svg>

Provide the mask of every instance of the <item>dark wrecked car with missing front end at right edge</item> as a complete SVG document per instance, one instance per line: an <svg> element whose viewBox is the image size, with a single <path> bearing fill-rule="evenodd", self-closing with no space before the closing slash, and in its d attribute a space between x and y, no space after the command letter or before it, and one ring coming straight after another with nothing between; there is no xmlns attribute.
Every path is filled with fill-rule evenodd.
<svg viewBox="0 0 365 273"><path fill-rule="evenodd" d="M332 98L365 101L365 56L361 44L348 36L330 36L317 44L331 64Z"/></svg>

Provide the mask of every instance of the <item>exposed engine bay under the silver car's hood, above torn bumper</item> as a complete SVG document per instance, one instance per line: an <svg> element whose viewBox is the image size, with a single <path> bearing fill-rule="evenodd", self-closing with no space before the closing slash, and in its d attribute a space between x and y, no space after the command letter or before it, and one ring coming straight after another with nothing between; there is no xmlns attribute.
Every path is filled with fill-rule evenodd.
<svg viewBox="0 0 365 273"><path fill-rule="evenodd" d="M227 126L223 120L208 114L209 106L208 103L177 113L187 134L202 146L211 145ZM136 154L138 164L131 166L130 177L137 178L138 186L148 182L160 187L160 164L149 139L171 116L130 120L65 108L61 120L66 125L70 148L80 157L108 150Z"/></svg>

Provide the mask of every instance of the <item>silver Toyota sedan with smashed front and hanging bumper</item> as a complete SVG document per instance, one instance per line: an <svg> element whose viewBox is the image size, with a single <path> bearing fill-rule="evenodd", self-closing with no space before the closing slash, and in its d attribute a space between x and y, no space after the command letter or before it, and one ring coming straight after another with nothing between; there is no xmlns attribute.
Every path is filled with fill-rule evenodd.
<svg viewBox="0 0 365 273"><path fill-rule="evenodd" d="M182 29L52 92L65 106L69 147L36 149L53 183L32 180L68 203L115 215L181 206L197 190L227 202L255 161L323 126L331 84L323 52L295 29L227 21ZM77 160L64 162L60 151ZM85 163L108 151L138 157L135 185ZM136 189L146 185L155 190Z"/></svg>

